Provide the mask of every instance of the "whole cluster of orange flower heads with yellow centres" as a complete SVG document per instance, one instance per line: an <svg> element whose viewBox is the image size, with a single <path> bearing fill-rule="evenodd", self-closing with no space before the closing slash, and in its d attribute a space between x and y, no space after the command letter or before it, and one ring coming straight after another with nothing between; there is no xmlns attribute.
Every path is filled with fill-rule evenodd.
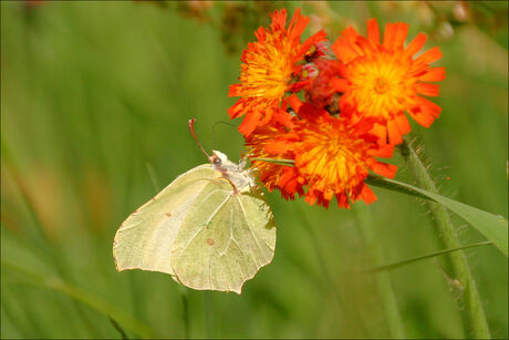
<svg viewBox="0 0 509 340"><path fill-rule="evenodd" d="M402 22L387 23L381 43L375 19L367 21L367 38L347 28L332 45L323 31L301 43L309 19L299 10L288 28L284 9L271 18L270 29L258 29L258 41L248 44L240 83L229 91L240 97L228 113L245 115L239 131L260 181L310 205L328 207L333 197L340 207L374 202L364 179L370 171L396 174L377 157L392 157L411 131L405 113L425 127L440 114L422 96L438 95L429 82L445 78L444 68L429 66L442 58L439 49L416 58L426 35L405 48L408 24Z"/></svg>

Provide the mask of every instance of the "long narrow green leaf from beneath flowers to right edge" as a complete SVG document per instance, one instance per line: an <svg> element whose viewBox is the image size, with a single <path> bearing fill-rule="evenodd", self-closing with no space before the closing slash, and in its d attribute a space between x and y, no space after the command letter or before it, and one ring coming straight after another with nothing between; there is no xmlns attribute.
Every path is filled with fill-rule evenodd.
<svg viewBox="0 0 509 340"><path fill-rule="evenodd" d="M468 206L457 200L394 179L370 175L367 176L365 182L367 184L372 184L389 190L435 200L436 203L442 204L449 210L463 217L474 228L476 228L480 234L482 234L488 240L492 241L494 245L503 255L508 256L508 225L507 220L502 216L497 216L487 213L485 210Z"/></svg>

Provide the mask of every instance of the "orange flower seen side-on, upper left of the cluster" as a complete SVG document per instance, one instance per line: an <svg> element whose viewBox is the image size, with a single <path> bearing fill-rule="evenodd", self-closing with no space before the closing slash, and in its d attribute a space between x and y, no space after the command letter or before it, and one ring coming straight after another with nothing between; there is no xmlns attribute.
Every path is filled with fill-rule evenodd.
<svg viewBox="0 0 509 340"><path fill-rule="evenodd" d="M270 29L259 28L256 42L248 44L241 56L240 83L230 86L229 96L241 99L228 110L231 119L247 115L239 131L249 136L257 126L271 121L285 124L289 115L280 109L284 93L291 90L292 75L299 72L298 62L310 47L325 37L320 31L304 41L300 37L308 25L309 18L298 9L288 28L287 10L271 14Z"/></svg>

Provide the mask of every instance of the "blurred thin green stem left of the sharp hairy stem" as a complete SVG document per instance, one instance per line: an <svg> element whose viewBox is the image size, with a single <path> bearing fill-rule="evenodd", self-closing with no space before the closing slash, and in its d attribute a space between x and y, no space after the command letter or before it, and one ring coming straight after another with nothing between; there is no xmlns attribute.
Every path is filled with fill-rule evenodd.
<svg viewBox="0 0 509 340"><path fill-rule="evenodd" d="M380 245L380 237L376 235L370 209L365 205L357 204L354 206L354 213L372 266L382 266L385 264L384 254ZM375 279L387 318L391 338L405 339L406 334L403 326L403 318L397 306L396 295L391 284L391 277L387 271L380 271L375 274Z"/></svg>

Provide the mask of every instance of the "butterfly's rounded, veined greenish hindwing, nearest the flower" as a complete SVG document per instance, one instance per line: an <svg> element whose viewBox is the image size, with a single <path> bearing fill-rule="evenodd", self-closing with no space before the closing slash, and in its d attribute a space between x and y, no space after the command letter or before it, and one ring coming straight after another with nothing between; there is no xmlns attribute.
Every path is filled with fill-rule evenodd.
<svg viewBox="0 0 509 340"><path fill-rule="evenodd" d="M274 255L276 227L261 190L233 195L211 181L179 228L170 262L176 279L194 289L241 292L242 285Z"/></svg>

